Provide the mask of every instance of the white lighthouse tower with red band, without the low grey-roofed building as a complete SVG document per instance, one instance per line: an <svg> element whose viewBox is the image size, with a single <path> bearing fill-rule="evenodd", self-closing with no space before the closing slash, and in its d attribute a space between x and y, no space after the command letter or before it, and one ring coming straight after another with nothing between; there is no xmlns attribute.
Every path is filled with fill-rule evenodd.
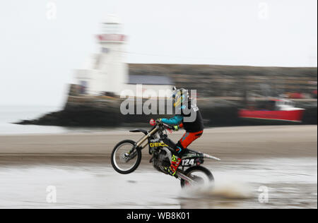
<svg viewBox="0 0 318 223"><path fill-rule="evenodd" d="M105 92L119 95L128 81L128 66L123 59L126 36L116 16L109 15L102 21L97 40L100 52L93 56L87 68L76 70L76 83L89 95Z"/></svg>

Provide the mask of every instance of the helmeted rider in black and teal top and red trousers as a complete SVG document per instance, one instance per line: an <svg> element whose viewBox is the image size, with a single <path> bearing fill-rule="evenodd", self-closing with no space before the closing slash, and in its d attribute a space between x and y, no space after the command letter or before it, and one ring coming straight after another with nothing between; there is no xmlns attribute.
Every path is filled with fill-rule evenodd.
<svg viewBox="0 0 318 223"><path fill-rule="evenodd" d="M170 119L157 119L157 121L172 126L175 131L178 131L179 128L184 128L186 131L177 144L168 138L166 138L165 142L175 149L174 154L172 154L171 165L170 167L165 167L165 170L168 174L175 176L181 162L180 158L184 155L184 152L186 152L188 145L201 137L204 131L204 123L199 108L196 104L192 103L191 97L189 97L188 90L184 88L176 89L175 87L173 90L173 106L176 108L176 111L179 109L179 114L176 114Z"/></svg>

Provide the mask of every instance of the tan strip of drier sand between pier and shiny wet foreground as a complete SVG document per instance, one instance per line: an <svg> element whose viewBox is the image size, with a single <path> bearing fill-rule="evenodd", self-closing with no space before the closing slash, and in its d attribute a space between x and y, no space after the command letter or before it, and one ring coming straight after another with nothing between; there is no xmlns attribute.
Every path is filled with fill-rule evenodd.
<svg viewBox="0 0 318 223"><path fill-rule="evenodd" d="M179 140L184 131L169 135ZM109 156L121 140L141 138L141 133L0 135L0 159L8 156L100 157ZM264 157L317 157L317 126L245 126L208 128L189 146L222 159ZM143 151L147 155L146 150Z"/></svg>

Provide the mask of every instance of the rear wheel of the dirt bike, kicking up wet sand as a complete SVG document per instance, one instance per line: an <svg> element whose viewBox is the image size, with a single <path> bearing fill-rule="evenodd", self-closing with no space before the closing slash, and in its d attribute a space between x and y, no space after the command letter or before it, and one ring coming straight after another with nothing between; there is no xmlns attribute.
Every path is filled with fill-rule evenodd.
<svg viewBox="0 0 318 223"><path fill-rule="evenodd" d="M211 173L211 171L206 169L206 167L190 167L189 169L184 171L184 175L188 176L189 178L196 181L196 183L199 183L201 185L207 185L208 183L213 183L214 181L213 174ZM184 186L190 185L187 181L184 181L184 179L181 179L180 183L182 188L184 188Z"/></svg>

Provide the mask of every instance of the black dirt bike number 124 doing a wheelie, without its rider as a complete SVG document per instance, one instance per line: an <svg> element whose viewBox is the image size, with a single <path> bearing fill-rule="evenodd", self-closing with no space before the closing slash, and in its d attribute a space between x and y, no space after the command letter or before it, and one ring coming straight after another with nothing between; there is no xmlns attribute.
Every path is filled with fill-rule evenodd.
<svg viewBox="0 0 318 223"><path fill-rule="evenodd" d="M150 121L151 130L134 129L130 132L141 132L144 136L137 142L123 140L115 145L112 151L112 167L120 174L130 174L135 171L141 163L141 150L148 145L148 152L151 155L150 162L153 167L164 174L167 174L165 167L170 167L174 143L167 138L167 131L172 132L172 127L162 122ZM146 142L146 143L145 143ZM181 157L182 161L176 171L175 177L180 180L182 188L193 186L199 183L211 183L214 181L211 171L202 167L204 158L220 160L211 155L186 149Z"/></svg>

